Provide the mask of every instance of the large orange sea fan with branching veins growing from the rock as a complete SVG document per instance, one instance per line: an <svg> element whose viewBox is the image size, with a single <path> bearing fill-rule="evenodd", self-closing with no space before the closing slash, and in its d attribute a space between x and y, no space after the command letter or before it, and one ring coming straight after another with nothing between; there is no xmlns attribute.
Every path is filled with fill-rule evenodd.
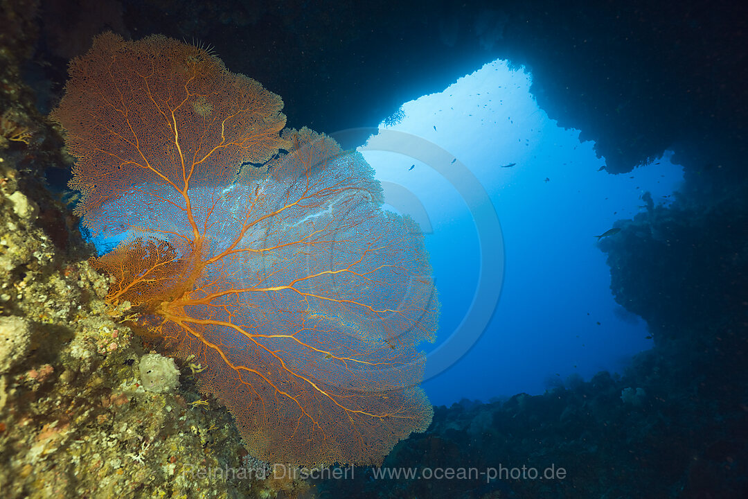
<svg viewBox="0 0 748 499"><path fill-rule="evenodd" d="M268 462L379 464L423 431L438 300L423 237L358 153L283 130L280 97L203 49L96 37L53 112L96 260L165 353L207 367Z"/></svg>

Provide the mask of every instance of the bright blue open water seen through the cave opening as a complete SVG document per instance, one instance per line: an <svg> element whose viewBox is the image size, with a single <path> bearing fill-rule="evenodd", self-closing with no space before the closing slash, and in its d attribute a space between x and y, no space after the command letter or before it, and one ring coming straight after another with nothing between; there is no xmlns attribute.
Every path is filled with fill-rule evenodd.
<svg viewBox="0 0 748 499"><path fill-rule="evenodd" d="M594 144L580 143L577 130L549 120L530 82L530 74L494 61L441 94L406 102L401 123L380 126L383 133L425 139L454 157L446 168L466 168L476 177L500 221L502 255L481 254L475 206L468 206L475 200L466 203L438 159L419 161L407 140L397 152L361 149L385 193L387 185L401 189L390 189L390 209L426 227L442 303L438 340L427 351L454 339L485 274L482 262L504 258L503 275L482 276L501 292L496 306L484 310L490 322L482 331L459 333L479 339L450 366L427 371L436 374L423 383L435 405L539 394L572 374L589 379L600 370L621 372L632 355L652 346L646 324L614 301L595 236L642 211L646 191L655 203L669 203L681 168L668 153L630 174L599 171L605 162ZM422 206L403 199L402 189Z"/></svg>

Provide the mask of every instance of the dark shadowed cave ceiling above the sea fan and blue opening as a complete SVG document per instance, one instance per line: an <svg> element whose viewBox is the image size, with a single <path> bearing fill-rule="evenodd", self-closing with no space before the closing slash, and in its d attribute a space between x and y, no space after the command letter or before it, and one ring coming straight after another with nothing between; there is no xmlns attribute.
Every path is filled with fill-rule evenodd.
<svg viewBox="0 0 748 499"><path fill-rule="evenodd" d="M621 173L666 147L694 164L744 155L747 19L745 2L725 0L65 0L46 2L39 52L64 61L105 29L200 40L280 94L289 126L327 133L376 126L508 58L532 71L549 116ZM59 88L64 64L52 67Z"/></svg>

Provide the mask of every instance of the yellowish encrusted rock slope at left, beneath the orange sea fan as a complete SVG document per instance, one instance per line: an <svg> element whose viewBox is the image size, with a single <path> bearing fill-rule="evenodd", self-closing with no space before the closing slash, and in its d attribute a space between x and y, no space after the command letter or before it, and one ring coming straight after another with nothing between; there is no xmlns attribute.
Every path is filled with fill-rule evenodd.
<svg viewBox="0 0 748 499"><path fill-rule="evenodd" d="M33 25L35 4L0 9L0 58L12 63L0 63L0 111L25 113L19 123L33 130L28 143L0 141L0 491L269 498L307 489L251 475L261 467L246 459L230 414L200 397L188 364L175 393L141 386L147 350L122 322L127 307L105 303L109 278L88 263L93 248L43 180L70 163L16 72L33 43L23 26Z"/></svg>

